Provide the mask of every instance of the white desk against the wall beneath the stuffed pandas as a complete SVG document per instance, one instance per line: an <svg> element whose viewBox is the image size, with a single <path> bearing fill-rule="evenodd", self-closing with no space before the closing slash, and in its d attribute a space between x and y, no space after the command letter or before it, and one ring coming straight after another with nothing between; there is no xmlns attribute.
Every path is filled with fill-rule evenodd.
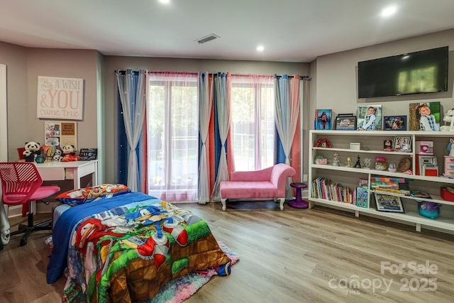
<svg viewBox="0 0 454 303"><path fill-rule="evenodd" d="M43 181L73 180L80 188L80 178L92 174L92 186L98 184L98 160L35 163Z"/></svg>

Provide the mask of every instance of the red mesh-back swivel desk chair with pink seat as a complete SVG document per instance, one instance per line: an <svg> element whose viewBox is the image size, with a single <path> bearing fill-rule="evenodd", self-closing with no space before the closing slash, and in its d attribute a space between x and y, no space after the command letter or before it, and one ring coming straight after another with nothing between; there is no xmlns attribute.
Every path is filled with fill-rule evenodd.
<svg viewBox="0 0 454 303"><path fill-rule="evenodd" d="M24 233L21 246L27 244L32 231L50 230L52 219L33 225L32 202L50 197L60 192L57 186L41 186L43 179L33 162L0 162L0 182L3 202L6 205L23 205L28 203L28 225L19 224L14 236Z"/></svg>

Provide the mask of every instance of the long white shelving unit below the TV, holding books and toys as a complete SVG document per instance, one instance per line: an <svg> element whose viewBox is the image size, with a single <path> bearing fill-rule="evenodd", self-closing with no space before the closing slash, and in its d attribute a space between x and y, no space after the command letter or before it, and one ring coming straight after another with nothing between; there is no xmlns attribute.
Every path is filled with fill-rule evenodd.
<svg viewBox="0 0 454 303"><path fill-rule="evenodd" d="M410 152L394 152L383 150L383 141L393 140L395 136L411 137ZM441 187L454 187L454 178L443 177L443 156L448 152L446 147L449 139L453 138L450 132L429 132L429 131L314 131L309 132L309 202L311 207L320 204L336 209L355 212L355 216L367 215L375 216L380 219L399 221L405 224L414 225L416 231L422 228L435 229L446 233L454 233L454 202L446 201L441 197ZM314 147L319 139L328 139L331 148ZM411 170L418 165L418 153L416 153L416 141L433 141L433 157L438 162L438 175L409 175L402 172L389 172L388 170L375 170L373 163L375 158L384 157L387 164L394 163L396 166L403 158L409 158ZM350 143L360 143L360 150L350 148ZM333 154L337 153L341 160L339 166L332 165ZM316 157L323 156L328 160L328 164L314 164ZM350 167L348 167L347 158L350 158ZM364 159L372 160L371 169L364 168ZM361 167L351 167L360 160ZM421 191L430 194L431 198L411 197L407 194L396 192L385 192L384 189L376 190L371 187L371 180L381 178L399 178L409 187L411 191ZM323 184L329 184L324 190L329 191L327 194L318 188L316 180L323 180ZM367 207L356 206L355 189L358 187L359 180L365 182L367 192ZM332 185L333 184L333 185ZM338 199L338 190L336 186L345 189L345 192L351 194L350 199L344 199L348 202L336 202ZM377 186L374 184L374 186ZM384 187L386 185L383 185ZM392 211L377 211L375 205L375 193L394 195L402 200L404 213ZM343 197L343 195L341 194ZM440 216L436 219L430 219L419 215L418 204L421 201L434 202L441 205ZM353 204L354 203L354 204Z"/></svg>

